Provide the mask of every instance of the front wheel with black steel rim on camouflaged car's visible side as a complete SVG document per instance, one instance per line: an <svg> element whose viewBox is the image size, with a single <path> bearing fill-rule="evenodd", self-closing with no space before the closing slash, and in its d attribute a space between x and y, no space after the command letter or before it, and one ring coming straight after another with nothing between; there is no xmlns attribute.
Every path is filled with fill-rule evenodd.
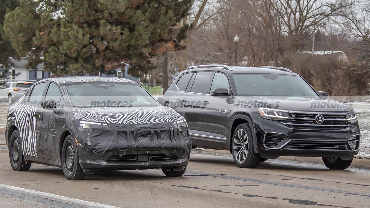
<svg viewBox="0 0 370 208"><path fill-rule="evenodd" d="M77 145L71 135L68 135L63 142L62 169L68 180L83 180L86 176L80 165Z"/></svg>

